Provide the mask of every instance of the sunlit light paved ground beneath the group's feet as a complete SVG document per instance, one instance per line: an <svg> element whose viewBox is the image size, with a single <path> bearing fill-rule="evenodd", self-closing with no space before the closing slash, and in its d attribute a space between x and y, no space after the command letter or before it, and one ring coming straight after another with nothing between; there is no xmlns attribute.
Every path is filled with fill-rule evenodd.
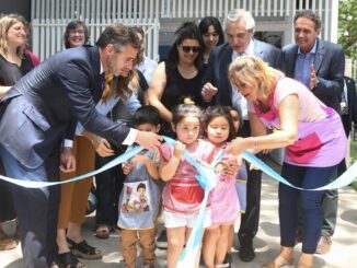
<svg viewBox="0 0 357 268"><path fill-rule="evenodd" d="M339 209L337 228L333 236L332 252L326 255L315 255L314 264L316 268L353 268L357 267L355 254L357 253L357 193L350 187L339 190ZM254 244L256 247L256 258L249 264L239 260L237 254L238 243L234 242L233 267L257 268L262 264L272 260L279 252L279 225L277 214L277 183L267 176L263 176L262 186L262 211L261 223ZM89 217L84 225L85 240L91 245L95 245L104 253L101 260L83 260L89 268L114 268L124 267L120 254L118 233L112 234L106 241L101 241L93 236L93 217ZM237 222L237 226L239 221ZM162 229L162 224L160 224ZM13 223L7 225L9 233L13 232ZM301 245L301 244L300 244ZM296 259L298 259L300 245L296 247ZM157 267L165 267L165 250L157 249ZM0 267L20 268L22 267L21 248L9 252L0 252ZM138 266L139 267L139 266Z"/></svg>

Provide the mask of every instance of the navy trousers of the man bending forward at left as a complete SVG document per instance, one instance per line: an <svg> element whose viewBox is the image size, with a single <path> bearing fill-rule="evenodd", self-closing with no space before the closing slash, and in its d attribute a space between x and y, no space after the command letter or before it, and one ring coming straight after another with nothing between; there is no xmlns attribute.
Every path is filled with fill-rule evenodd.
<svg viewBox="0 0 357 268"><path fill-rule="evenodd" d="M27 168L1 144L0 155L9 177L22 180L47 182L55 177L58 162L45 162L37 168ZM56 160L59 155L56 155ZM56 166L57 165L57 166ZM56 170L57 168L57 170ZM57 176L58 177L58 176ZM21 226L24 267L47 268L57 257L57 218L60 197L58 186L37 189L11 185L12 198Z"/></svg>

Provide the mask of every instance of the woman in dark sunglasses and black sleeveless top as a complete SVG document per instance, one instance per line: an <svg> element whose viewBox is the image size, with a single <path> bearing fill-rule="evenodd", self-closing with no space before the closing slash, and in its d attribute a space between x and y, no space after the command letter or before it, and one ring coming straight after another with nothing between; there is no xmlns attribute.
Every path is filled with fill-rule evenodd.
<svg viewBox="0 0 357 268"><path fill-rule="evenodd" d="M193 100L196 105L203 103L200 88L205 72L203 40L196 24L183 23L175 35L176 40L166 59L154 71L148 91L150 105L159 109L164 120L163 133L170 136L172 136L171 109L185 97Z"/></svg>

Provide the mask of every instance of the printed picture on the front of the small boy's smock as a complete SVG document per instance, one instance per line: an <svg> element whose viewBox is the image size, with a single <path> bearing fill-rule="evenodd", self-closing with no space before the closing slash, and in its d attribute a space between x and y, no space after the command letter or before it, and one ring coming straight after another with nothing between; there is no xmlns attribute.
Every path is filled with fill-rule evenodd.
<svg viewBox="0 0 357 268"><path fill-rule="evenodd" d="M124 184L123 213L150 211L149 184L147 180Z"/></svg>

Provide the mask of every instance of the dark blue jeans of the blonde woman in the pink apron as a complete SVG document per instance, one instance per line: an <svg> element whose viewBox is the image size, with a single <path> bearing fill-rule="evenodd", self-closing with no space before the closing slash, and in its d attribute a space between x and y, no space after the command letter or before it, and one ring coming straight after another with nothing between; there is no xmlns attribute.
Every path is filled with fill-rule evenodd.
<svg viewBox="0 0 357 268"><path fill-rule="evenodd" d="M330 183L337 168L296 166L284 163L281 176L295 186L306 189ZM302 252L313 254L321 236L323 190L298 190L279 184L279 219L281 246L293 247L298 228L298 205L302 214Z"/></svg>

